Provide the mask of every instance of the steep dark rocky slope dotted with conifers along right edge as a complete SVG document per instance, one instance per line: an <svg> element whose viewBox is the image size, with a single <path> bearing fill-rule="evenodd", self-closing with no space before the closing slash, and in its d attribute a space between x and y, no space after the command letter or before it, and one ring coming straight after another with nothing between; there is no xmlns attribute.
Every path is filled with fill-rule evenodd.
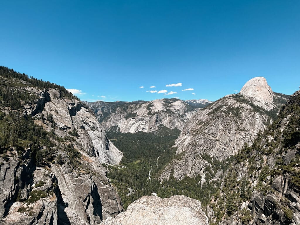
<svg viewBox="0 0 300 225"><path fill-rule="evenodd" d="M234 157L207 207L213 224L300 224L300 91Z"/></svg>

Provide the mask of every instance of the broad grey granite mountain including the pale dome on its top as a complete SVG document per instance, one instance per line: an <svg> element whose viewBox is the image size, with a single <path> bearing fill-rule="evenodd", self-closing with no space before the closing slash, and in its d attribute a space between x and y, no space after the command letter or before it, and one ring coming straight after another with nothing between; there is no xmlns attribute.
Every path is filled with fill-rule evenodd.
<svg viewBox="0 0 300 225"><path fill-rule="evenodd" d="M244 94L227 95L190 118L176 140L176 155L180 157L161 177L170 177L172 171L176 179L185 175L205 176L203 170L208 162L203 155L223 161L236 154L244 143L251 144L253 138L264 131L287 100L285 95L269 93L271 88L261 77L248 81L242 91ZM271 106L272 110L268 110Z"/></svg>

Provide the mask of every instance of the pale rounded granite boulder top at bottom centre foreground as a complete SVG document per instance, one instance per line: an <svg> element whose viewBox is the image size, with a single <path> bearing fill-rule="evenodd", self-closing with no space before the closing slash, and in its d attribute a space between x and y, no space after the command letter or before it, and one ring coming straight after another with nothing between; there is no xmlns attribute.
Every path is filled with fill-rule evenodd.
<svg viewBox="0 0 300 225"><path fill-rule="evenodd" d="M107 219L104 225L207 225L208 218L202 212L201 203L183 195L161 199L157 196L143 196L131 203L125 212L114 219Z"/></svg>

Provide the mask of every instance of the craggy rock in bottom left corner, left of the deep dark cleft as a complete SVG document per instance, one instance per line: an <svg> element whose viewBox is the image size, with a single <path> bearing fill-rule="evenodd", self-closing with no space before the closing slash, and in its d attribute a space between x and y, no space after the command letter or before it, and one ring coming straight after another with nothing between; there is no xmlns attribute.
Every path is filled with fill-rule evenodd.
<svg viewBox="0 0 300 225"><path fill-rule="evenodd" d="M28 151L30 151L28 149ZM28 153L28 152L27 152ZM16 152L12 152L17 155ZM49 192L46 197L27 204L30 191L46 193L52 190L54 176L44 168L35 167L30 160L21 165L14 157L0 159L0 223L1 224L57 224L57 198ZM32 176L33 175L33 176ZM39 185L43 182L41 187ZM37 187L35 187L37 186ZM30 197L31 198L31 197ZM16 201L17 199L17 201Z"/></svg>

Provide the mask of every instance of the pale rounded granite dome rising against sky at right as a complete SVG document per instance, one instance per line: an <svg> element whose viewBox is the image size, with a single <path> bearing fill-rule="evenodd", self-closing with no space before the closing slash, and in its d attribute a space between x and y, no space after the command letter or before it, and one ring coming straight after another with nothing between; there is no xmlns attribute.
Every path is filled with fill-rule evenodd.
<svg viewBox="0 0 300 225"><path fill-rule="evenodd" d="M262 76L248 80L241 89L240 94L253 98L254 104L263 107L266 110L271 110L274 107L274 93L268 85L267 80Z"/></svg>

